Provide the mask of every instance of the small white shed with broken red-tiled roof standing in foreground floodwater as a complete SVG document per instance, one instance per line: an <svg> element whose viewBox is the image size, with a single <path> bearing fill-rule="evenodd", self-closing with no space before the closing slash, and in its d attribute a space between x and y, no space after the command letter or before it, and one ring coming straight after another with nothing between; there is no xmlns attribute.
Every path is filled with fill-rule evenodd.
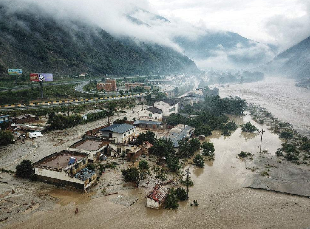
<svg viewBox="0 0 310 229"><path fill-rule="evenodd" d="M168 188L157 184L146 196L146 206L148 208L160 209L168 194Z"/></svg>

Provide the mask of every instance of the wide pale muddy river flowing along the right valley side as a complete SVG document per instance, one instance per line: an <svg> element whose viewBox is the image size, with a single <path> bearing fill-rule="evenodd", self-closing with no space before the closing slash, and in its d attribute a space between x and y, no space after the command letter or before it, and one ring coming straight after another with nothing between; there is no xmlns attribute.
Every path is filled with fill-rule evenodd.
<svg viewBox="0 0 310 229"><path fill-rule="evenodd" d="M296 87L294 79L265 77L263 81L220 88L220 96L240 96L265 107L280 121L289 122L300 134L310 136L310 90Z"/></svg>

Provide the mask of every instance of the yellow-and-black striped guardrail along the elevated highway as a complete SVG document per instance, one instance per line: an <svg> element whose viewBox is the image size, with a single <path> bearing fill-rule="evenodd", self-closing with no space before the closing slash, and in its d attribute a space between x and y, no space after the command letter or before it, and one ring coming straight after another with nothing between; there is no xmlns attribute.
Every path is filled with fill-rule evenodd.
<svg viewBox="0 0 310 229"><path fill-rule="evenodd" d="M147 92L140 92L140 93L134 93L131 95L112 95L112 96L106 96L106 97L94 97L94 98L85 98L85 99L65 99L65 100L51 100L51 101L42 101L38 103L29 103L23 104L23 103L14 103L14 104L4 104L0 105L0 108L12 108L12 107L30 107L30 106L39 106L39 105L45 105L45 104L59 104L59 103L68 103L69 102L82 102L82 101L98 101L103 99L111 99L111 98L131 98L137 95L148 95Z"/></svg>

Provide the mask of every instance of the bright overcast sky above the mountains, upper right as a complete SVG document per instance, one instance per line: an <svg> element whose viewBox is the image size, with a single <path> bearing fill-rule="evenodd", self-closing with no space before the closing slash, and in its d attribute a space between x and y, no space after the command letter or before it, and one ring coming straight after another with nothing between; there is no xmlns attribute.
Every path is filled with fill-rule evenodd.
<svg viewBox="0 0 310 229"><path fill-rule="evenodd" d="M310 0L149 0L157 13L287 48L310 36Z"/></svg>

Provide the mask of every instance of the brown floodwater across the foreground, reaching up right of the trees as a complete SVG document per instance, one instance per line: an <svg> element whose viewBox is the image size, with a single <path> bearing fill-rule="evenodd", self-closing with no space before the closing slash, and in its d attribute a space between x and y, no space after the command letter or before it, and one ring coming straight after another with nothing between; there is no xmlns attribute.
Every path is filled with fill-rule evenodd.
<svg viewBox="0 0 310 229"><path fill-rule="evenodd" d="M249 115L231 118L238 124L251 121ZM273 155L281 140L267 130L268 126L255 125L266 130L262 148ZM256 171L246 169L246 161L237 154L241 150L259 154L260 138L259 134L242 133L241 128L229 137L216 131L208 137L215 145L215 160L206 162L203 168L189 166L195 184L190 188L189 200L179 201L178 209L146 208L145 195L150 187L120 190L118 195L138 197L129 207L113 203L115 195L92 199L92 192L57 189L51 196L58 200L49 210L40 211L40 205L36 212L27 214L28 218L3 228L307 228L308 198L243 187L246 177ZM190 206L193 200L199 206ZM78 214L74 214L77 207Z"/></svg>

